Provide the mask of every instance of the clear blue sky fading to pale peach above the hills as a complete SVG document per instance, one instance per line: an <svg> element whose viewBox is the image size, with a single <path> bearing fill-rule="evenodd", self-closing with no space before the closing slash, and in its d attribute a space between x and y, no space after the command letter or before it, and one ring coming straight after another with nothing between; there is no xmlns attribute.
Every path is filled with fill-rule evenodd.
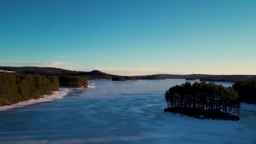
<svg viewBox="0 0 256 144"><path fill-rule="evenodd" d="M256 75L256 0L0 0L0 66Z"/></svg>

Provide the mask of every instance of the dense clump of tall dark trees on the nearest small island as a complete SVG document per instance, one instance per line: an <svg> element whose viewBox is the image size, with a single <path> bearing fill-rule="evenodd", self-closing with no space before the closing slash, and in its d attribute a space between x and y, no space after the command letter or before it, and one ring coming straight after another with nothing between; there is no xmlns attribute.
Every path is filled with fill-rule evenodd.
<svg viewBox="0 0 256 144"><path fill-rule="evenodd" d="M165 111L195 117L206 115L208 118L239 118L240 102L236 91L215 83L195 82L191 85L186 82L173 86L165 92L165 100L168 106Z"/></svg>

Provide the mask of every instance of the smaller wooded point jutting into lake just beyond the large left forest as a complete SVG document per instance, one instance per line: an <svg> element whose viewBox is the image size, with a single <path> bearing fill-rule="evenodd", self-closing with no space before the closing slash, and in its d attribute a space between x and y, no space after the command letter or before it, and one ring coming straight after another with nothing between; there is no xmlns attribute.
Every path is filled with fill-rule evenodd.
<svg viewBox="0 0 256 144"><path fill-rule="evenodd" d="M59 85L67 87L87 87L88 81L86 76L69 76L61 75L59 77Z"/></svg>

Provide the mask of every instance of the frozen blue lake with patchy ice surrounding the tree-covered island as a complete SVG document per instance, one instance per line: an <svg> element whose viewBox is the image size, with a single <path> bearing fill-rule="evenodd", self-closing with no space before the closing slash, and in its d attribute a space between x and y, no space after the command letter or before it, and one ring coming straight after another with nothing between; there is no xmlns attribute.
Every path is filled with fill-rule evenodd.
<svg viewBox="0 0 256 144"><path fill-rule="evenodd" d="M89 80L63 99L1 111L0 143L256 144L253 104L241 104L239 121L164 113L165 91L184 82Z"/></svg>

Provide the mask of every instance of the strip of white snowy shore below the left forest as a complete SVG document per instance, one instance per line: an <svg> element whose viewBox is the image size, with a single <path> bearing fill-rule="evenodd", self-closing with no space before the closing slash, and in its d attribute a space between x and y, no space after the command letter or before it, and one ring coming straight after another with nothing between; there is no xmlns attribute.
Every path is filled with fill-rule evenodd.
<svg viewBox="0 0 256 144"><path fill-rule="evenodd" d="M2 106L2 107L0 107L0 111L4 111L7 109L16 108L16 107L23 107L23 106L26 106L29 104L35 104L35 103L40 103L40 102L45 102L45 101L53 101L55 99L61 99L63 96L66 96L69 91L71 91L70 88L60 88L59 91L53 91L53 94L44 95L44 96L42 96L42 98L39 98L39 99L31 99L28 101L21 101L19 103L12 104L12 105Z"/></svg>

